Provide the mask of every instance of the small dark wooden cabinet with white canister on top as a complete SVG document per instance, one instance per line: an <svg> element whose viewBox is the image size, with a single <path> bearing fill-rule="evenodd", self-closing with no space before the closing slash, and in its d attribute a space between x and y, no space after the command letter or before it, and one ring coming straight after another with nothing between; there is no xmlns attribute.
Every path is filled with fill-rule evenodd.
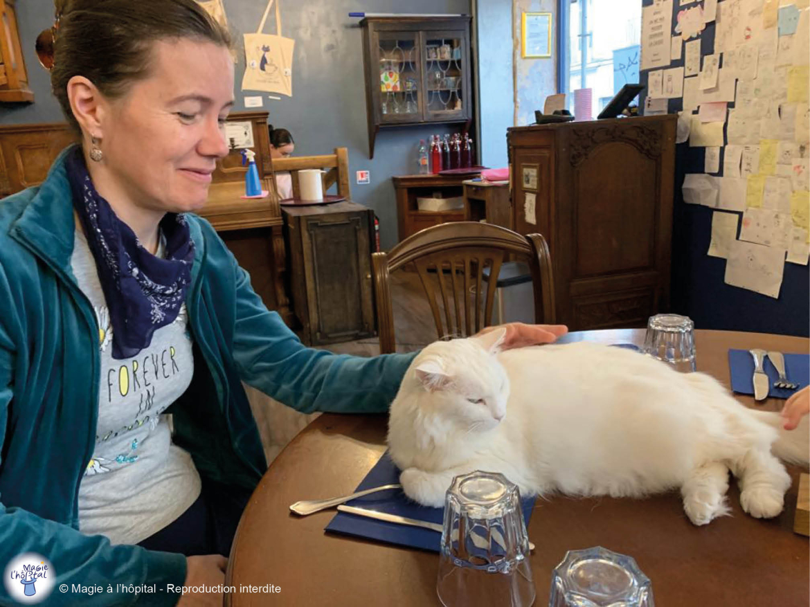
<svg viewBox="0 0 810 607"><path fill-rule="evenodd" d="M318 346L373 335L373 212L348 201L282 212L301 341Z"/></svg>

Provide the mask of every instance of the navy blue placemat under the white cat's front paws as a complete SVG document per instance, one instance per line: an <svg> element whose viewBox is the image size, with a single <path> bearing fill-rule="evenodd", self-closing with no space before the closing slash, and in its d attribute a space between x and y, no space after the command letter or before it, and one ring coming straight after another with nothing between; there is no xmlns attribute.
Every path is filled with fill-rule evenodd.
<svg viewBox="0 0 810 607"><path fill-rule="evenodd" d="M356 491L390 485L394 482L399 482L399 469L391 461L386 451L380 461L366 474L363 482L357 486ZM351 502L347 502L347 505L407 516L409 519L425 520L429 523L442 524L445 516L444 508L420 506L418 503L408 499L401 489L379 491L363 498L352 499ZM523 517L526 520L527 527L534 507L535 498L522 499ZM383 520L373 520L367 516L356 516L347 512L338 512L335 518L326 525L326 531L346 533L356 537L366 537L390 544L432 550L433 552L439 551L441 542L441 533L430 529L386 523Z"/></svg>

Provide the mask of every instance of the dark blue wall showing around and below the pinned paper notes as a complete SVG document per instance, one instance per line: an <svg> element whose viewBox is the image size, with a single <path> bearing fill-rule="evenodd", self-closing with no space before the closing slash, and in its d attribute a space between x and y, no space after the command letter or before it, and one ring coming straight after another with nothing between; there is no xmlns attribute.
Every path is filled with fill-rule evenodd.
<svg viewBox="0 0 810 607"><path fill-rule="evenodd" d="M650 6L652 0L643 0ZM673 2L675 28L679 2ZM714 52L714 22L701 32L701 55ZM674 32L671 32L674 34ZM685 49L684 49L685 50ZM681 59L670 67L683 66ZM721 63L722 66L722 63ZM642 72L646 85L647 73ZM680 112L683 100L669 100L669 111ZM733 108L734 104L729 104ZM724 151L724 149L723 149ZM705 148L680 143L676 150L675 212L672 227L672 311L691 317L698 329L727 329L810 335L810 271L807 265L785 264L782 290L773 299L747 289L731 287L723 278L726 260L709 257L713 209L684 203L680 186L686 173L704 171ZM723 156L720 161L721 174ZM739 234L738 234L739 236Z"/></svg>

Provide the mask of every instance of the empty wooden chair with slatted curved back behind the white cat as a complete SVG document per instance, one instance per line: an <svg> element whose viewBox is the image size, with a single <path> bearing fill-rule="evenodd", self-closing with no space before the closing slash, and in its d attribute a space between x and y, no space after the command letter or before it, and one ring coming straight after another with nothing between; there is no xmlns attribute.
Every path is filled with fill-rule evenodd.
<svg viewBox="0 0 810 607"><path fill-rule="evenodd" d="M498 274L510 255L527 261L531 269L535 322L553 324L556 312L552 262L548 244L539 234L521 236L488 223L442 223L408 237L389 253L374 253L380 353L390 354L396 349L391 272L407 264L415 265L433 312L438 338L465 337L492 324ZM483 285L484 268L489 269L486 287ZM437 293L444 308L444 322Z"/></svg>

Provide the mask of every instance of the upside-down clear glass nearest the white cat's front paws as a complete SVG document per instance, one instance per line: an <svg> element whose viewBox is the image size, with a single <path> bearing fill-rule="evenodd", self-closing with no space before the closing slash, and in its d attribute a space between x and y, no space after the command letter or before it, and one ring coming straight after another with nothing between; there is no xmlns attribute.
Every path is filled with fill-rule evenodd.
<svg viewBox="0 0 810 607"><path fill-rule="evenodd" d="M445 607L535 601L520 492L503 474L464 474L447 490L437 593Z"/></svg>

